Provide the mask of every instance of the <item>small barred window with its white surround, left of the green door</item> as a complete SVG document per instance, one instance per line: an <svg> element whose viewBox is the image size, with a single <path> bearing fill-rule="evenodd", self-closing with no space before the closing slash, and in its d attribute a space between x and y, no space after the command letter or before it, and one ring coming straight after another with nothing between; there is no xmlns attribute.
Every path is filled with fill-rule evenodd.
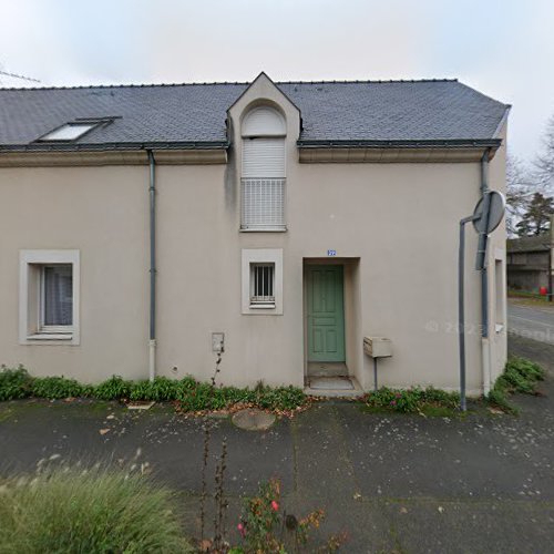
<svg viewBox="0 0 554 554"><path fill-rule="evenodd" d="M243 249L243 314L283 314L283 249Z"/></svg>

